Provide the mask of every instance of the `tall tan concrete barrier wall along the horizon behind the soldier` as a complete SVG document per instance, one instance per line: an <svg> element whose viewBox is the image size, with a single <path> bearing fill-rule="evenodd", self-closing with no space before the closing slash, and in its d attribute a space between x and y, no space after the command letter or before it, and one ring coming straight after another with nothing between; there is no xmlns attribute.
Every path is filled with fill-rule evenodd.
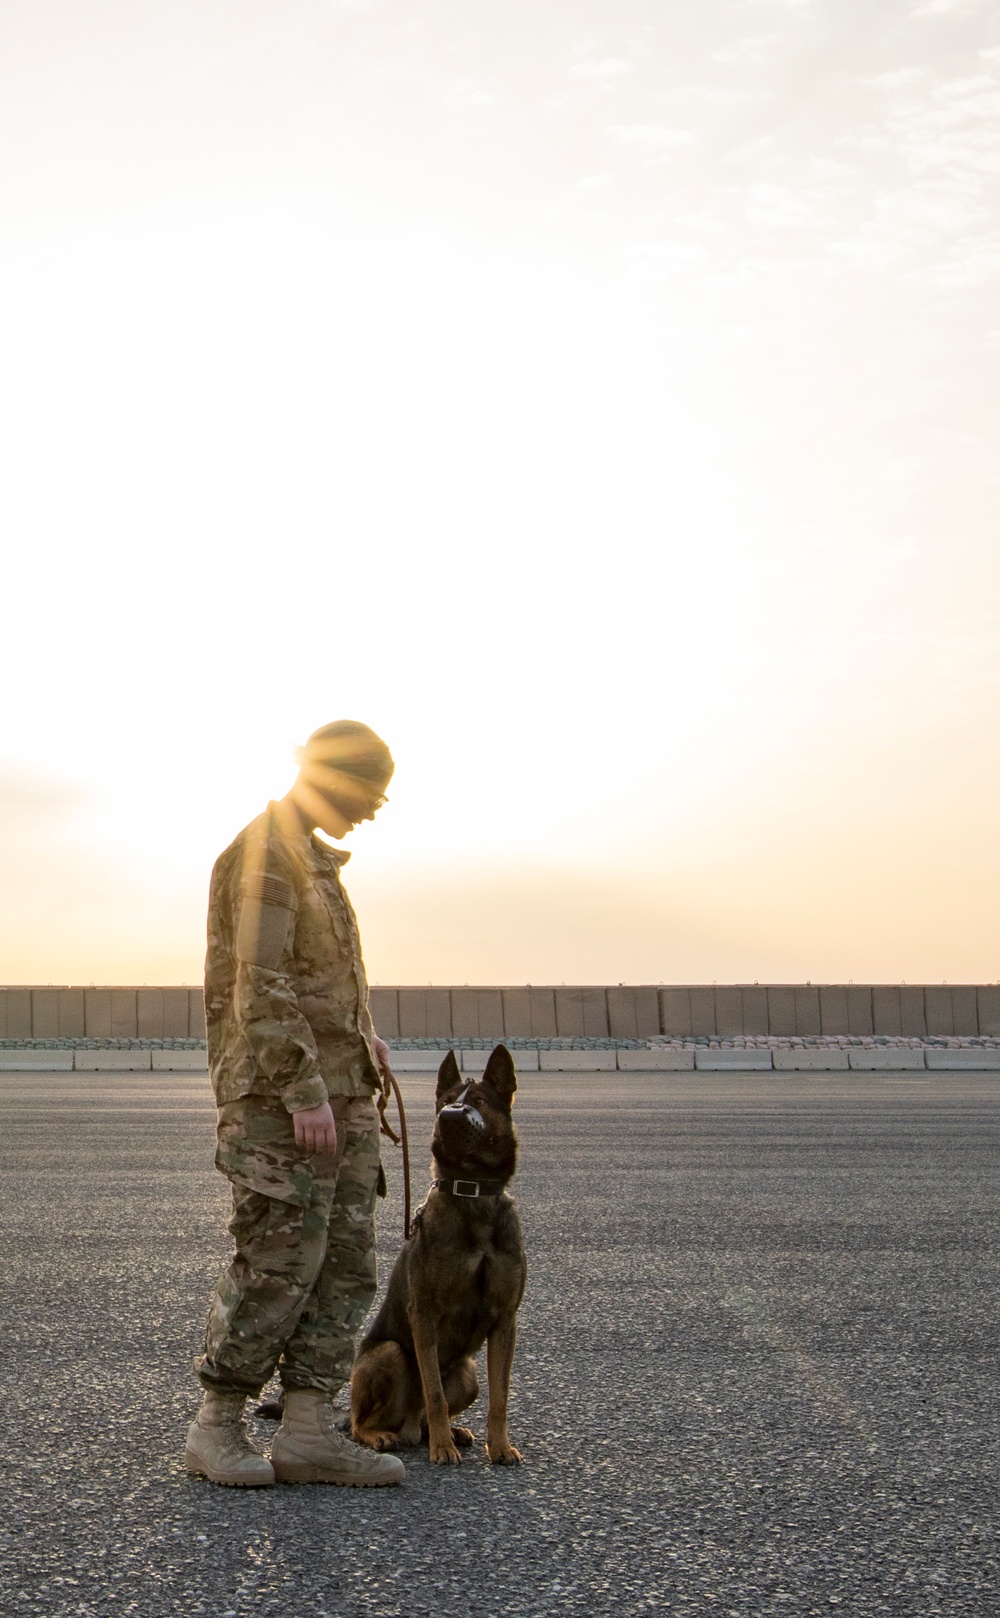
<svg viewBox="0 0 1000 1618"><path fill-rule="evenodd" d="M1000 1034L995 984L372 989L385 1039ZM0 1039L204 1039L201 989L0 989Z"/></svg>

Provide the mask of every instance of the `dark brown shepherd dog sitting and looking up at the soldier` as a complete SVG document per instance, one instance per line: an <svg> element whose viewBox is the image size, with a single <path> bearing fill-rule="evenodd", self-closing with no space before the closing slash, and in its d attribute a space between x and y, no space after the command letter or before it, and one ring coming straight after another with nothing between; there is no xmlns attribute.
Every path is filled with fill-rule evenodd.
<svg viewBox="0 0 1000 1618"><path fill-rule="evenodd" d="M474 1354L487 1345L490 1461L521 1459L506 1435L518 1306L528 1264L505 1186L518 1160L511 1107L518 1079L497 1045L482 1079L466 1082L448 1052L437 1074L434 1183L366 1335L351 1377L351 1435L372 1450L419 1443L460 1461L474 1442L453 1427L479 1395Z"/></svg>

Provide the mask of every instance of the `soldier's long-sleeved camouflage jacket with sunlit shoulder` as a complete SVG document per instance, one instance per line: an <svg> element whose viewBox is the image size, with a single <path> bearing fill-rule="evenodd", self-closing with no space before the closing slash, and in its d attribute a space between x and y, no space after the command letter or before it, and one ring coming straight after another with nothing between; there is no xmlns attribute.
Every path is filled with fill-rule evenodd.
<svg viewBox="0 0 1000 1618"><path fill-rule="evenodd" d="M379 1087L346 859L272 803L215 861L206 1018L220 1107L267 1095L303 1112Z"/></svg>

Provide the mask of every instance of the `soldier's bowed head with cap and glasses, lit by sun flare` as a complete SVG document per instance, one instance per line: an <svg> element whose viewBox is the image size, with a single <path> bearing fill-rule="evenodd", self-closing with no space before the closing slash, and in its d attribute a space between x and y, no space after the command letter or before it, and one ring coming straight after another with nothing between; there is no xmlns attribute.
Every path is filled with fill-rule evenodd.
<svg viewBox="0 0 1000 1618"><path fill-rule="evenodd" d="M314 730L298 759L299 773L288 796L304 820L330 837L345 837L359 820L374 819L395 770L382 738L353 718Z"/></svg>

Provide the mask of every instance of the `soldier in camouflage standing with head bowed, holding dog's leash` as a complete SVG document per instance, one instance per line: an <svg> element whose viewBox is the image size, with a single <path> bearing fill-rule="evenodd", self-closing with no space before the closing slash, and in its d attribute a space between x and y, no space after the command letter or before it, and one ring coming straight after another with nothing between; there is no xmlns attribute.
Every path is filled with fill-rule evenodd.
<svg viewBox="0 0 1000 1618"><path fill-rule="evenodd" d="M209 1309L188 1469L215 1484L398 1484L403 1464L354 1445L332 1400L375 1296L375 1036L341 838L393 773L367 725L338 720L299 752L294 786L220 854L209 896L206 1016L218 1105L215 1163L233 1188L236 1256ZM267 1461L243 1421L275 1367L285 1414Z"/></svg>

